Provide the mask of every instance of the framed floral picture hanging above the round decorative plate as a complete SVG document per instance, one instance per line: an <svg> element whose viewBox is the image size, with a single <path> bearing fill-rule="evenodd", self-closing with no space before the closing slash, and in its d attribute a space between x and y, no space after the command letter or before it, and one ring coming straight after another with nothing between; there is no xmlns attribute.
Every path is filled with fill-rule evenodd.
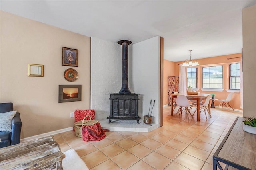
<svg viewBox="0 0 256 170"><path fill-rule="evenodd" d="M78 50L62 47L62 66L78 67Z"/></svg>

